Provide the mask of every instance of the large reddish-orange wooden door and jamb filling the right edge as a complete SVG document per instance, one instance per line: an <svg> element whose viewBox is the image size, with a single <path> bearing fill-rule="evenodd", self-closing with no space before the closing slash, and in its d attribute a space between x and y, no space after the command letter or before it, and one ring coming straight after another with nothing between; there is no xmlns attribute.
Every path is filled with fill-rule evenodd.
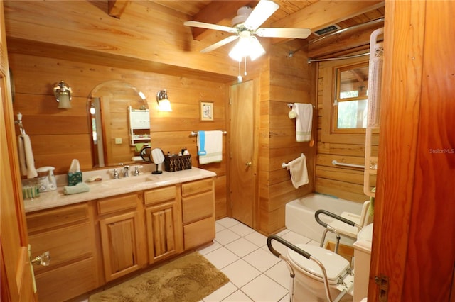
<svg viewBox="0 0 455 302"><path fill-rule="evenodd" d="M385 1L368 301L455 301L454 11Z"/></svg>

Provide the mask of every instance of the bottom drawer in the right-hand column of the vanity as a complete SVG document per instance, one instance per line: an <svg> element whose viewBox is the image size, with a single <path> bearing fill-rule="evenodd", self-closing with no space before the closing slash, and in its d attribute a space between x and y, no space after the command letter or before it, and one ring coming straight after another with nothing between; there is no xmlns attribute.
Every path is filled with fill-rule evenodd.
<svg viewBox="0 0 455 302"><path fill-rule="evenodd" d="M209 217L183 226L185 250L211 242L215 238L215 218Z"/></svg>

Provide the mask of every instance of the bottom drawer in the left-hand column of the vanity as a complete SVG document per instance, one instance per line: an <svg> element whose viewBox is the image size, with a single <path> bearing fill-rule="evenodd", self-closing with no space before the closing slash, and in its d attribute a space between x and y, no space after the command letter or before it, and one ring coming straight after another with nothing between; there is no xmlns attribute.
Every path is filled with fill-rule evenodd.
<svg viewBox="0 0 455 302"><path fill-rule="evenodd" d="M51 272L37 274L36 286L39 301L67 301L96 289L99 285L95 267L95 260L90 258Z"/></svg>

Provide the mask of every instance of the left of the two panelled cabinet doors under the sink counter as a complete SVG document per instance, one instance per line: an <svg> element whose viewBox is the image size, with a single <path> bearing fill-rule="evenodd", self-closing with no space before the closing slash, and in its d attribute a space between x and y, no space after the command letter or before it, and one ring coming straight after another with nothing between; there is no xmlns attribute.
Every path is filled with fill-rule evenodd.
<svg viewBox="0 0 455 302"><path fill-rule="evenodd" d="M139 269L139 228L137 212L100 220L106 281Z"/></svg>

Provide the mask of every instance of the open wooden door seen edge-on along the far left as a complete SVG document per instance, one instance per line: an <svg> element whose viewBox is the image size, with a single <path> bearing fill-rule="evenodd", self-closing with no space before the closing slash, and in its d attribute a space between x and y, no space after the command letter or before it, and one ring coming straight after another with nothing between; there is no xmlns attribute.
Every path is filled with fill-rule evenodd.
<svg viewBox="0 0 455 302"><path fill-rule="evenodd" d="M0 301L37 301L33 293L33 276L28 256L28 236L18 169L3 1L0 1L0 11Z"/></svg>

